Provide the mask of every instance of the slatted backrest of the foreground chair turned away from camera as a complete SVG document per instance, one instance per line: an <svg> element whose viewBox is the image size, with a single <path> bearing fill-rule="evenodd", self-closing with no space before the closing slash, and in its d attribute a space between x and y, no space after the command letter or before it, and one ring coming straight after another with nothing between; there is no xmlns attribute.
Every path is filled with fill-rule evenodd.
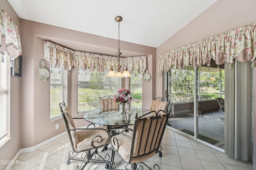
<svg viewBox="0 0 256 170"><path fill-rule="evenodd" d="M135 118L130 162L142 162L158 152L169 115L159 110Z"/></svg>

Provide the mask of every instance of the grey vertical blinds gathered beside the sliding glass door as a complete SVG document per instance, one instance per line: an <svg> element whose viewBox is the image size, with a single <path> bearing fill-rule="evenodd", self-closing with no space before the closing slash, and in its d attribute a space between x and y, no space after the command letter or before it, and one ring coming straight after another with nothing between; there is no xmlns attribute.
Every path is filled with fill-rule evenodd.
<svg viewBox="0 0 256 170"><path fill-rule="evenodd" d="M228 64L225 64L225 67ZM252 80L250 63L225 70L225 154L252 160Z"/></svg>

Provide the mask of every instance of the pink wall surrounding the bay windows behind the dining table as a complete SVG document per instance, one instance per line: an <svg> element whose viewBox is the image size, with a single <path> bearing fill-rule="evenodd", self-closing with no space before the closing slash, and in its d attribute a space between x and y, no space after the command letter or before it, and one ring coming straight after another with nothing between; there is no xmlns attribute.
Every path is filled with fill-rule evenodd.
<svg viewBox="0 0 256 170"><path fill-rule="evenodd" d="M32 147L51 137L65 131L62 119L50 122L50 81L38 81L37 71L39 60L44 59L44 40L58 43L64 47L90 53L114 55L117 48L117 40L100 37L87 33L81 33L69 29L46 25L28 20L21 20L22 30L22 119L21 119L21 148ZM152 71L152 58L155 58L156 48L136 45L121 41L122 56L149 55L148 67ZM153 56L153 57L152 57ZM49 70L50 65L47 62ZM77 115L77 69L72 68L68 78L68 103L73 117ZM128 88L128 78L124 79L124 87ZM152 81L144 82L143 88L147 91L144 99L144 107L152 98ZM149 93L148 93L149 92ZM59 123L59 129L55 125ZM84 120L76 120L78 127L87 125ZM29 132L29 133L27 133Z"/></svg>

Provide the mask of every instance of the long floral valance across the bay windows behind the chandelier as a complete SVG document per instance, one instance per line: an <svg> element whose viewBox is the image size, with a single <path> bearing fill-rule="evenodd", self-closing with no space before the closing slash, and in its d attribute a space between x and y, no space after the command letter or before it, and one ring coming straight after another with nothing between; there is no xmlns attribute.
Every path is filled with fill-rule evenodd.
<svg viewBox="0 0 256 170"><path fill-rule="evenodd" d="M52 68L61 67L71 70L73 66L82 70L103 72L109 71L110 66L117 65L118 58L107 55L99 55L82 51L74 51L60 45L44 41L44 58ZM147 56L120 57L120 65L127 66L128 71L144 73L147 67Z"/></svg>

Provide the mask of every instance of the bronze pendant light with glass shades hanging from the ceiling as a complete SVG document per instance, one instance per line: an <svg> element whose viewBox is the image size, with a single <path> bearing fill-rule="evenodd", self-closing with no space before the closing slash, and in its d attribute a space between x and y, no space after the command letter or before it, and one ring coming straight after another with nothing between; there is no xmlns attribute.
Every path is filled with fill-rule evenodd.
<svg viewBox="0 0 256 170"><path fill-rule="evenodd" d="M108 74L107 74L107 77L120 77L120 78L124 78L124 77L131 77L131 74L130 74L130 72L127 70L127 66L124 66L124 67L126 67L125 68L125 70L124 70L124 67L121 69L121 65L120 65L120 55L122 54L121 52L120 52L120 22L123 20L123 18L121 17L121 16L117 16L116 18L115 18L115 20L116 20L116 22L118 22L118 52L116 53L116 55L117 55L117 57L118 57L118 65L114 65L114 66L110 66L110 71L108 72ZM114 67L114 69L117 71L117 72L115 72L114 70L113 70L113 67ZM124 70L123 71L123 73L121 72L122 70Z"/></svg>

